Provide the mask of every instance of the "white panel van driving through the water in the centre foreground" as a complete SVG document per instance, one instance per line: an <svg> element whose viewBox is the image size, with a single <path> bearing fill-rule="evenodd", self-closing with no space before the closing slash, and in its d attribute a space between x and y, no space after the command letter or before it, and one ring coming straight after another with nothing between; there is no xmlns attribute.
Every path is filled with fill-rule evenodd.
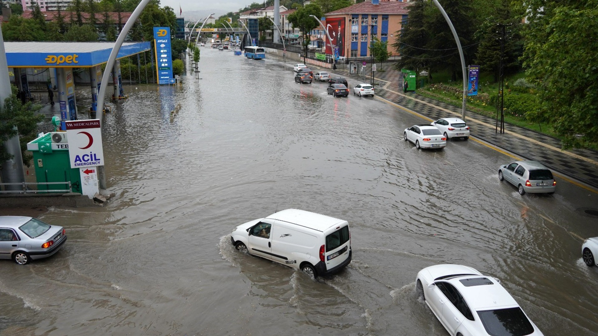
<svg viewBox="0 0 598 336"><path fill-rule="evenodd" d="M234 247L315 279L337 273L351 262L349 223L305 210L286 209L239 225Z"/></svg>

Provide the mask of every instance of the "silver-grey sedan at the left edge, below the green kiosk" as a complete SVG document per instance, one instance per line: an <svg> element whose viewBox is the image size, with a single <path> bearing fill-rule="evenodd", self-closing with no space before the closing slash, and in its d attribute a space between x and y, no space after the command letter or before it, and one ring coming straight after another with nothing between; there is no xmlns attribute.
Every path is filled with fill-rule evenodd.
<svg viewBox="0 0 598 336"><path fill-rule="evenodd" d="M47 258L66 242L63 227L37 218L0 216L0 258L13 259L20 265L33 259Z"/></svg>

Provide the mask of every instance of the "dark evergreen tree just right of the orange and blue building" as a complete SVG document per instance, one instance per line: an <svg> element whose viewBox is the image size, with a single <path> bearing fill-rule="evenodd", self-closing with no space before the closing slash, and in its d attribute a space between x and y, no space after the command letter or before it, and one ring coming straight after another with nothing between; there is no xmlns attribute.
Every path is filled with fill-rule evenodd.
<svg viewBox="0 0 598 336"><path fill-rule="evenodd" d="M430 35L425 19L430 3L426 0L415 0L408 8L407 22L402 24L403 29L395 32L398 38L392 44L394 50L401 54L401 59L393 65L398 71L403 68L411 70L427 68L430 58L430 51L426 49Z"/></svg>

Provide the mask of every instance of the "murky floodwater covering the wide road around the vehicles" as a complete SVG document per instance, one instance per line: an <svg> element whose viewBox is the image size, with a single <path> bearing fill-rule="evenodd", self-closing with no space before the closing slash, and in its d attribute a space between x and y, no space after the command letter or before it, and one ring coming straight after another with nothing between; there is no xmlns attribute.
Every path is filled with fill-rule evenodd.
<svg viewBox="0 0 598 336"><path fill-rule="evenodd" d="M426 120L274 60L202 48L200 71L125 88L103 133L116 196L42 215L68 233L53 257L0 262L0 335L445 336L414 291L441 263L501 279L545 335L598 335L580 251L598 219L579 210L598 194L558 179L522 197L498 180L511 157L474 139L418 151L402 133ZM313 281L231 246L291 207L349 221L349 267Z"/></svg>

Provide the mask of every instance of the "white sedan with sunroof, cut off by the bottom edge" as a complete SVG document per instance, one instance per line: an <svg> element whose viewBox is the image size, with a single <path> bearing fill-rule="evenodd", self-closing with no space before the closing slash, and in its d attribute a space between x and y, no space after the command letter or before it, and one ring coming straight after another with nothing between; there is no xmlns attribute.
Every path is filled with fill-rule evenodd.
<svg viewBox="0 0 598 336"><path fill-rule="evenodd" d="M543 335L500 280L442 264L417 273L416 291L453 336Z"/></svg>

